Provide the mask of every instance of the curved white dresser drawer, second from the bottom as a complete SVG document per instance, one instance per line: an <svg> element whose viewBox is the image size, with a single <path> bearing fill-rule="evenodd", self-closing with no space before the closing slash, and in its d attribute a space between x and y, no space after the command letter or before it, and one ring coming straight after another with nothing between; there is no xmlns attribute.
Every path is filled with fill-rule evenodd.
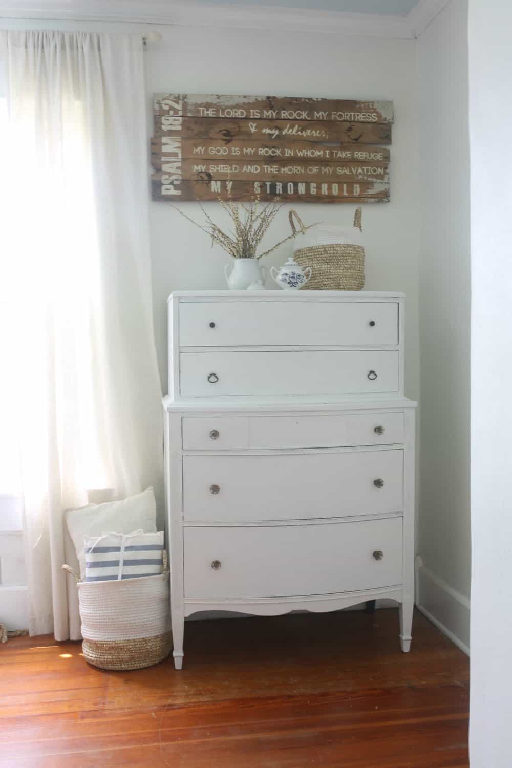
<svg viewBox="0 0 512 768"><path fill-rule="evenodd" d="M403 508L403 451L183 456L183 518L381 515Z"/></svg>

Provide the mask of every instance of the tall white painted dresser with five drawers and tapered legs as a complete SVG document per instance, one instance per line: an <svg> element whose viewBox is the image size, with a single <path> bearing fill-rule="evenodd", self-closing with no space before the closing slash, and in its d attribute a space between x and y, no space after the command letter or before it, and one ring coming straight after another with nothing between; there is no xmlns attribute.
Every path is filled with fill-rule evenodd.
<svg viewBox="0 0 512 768"><path fill-rule="evenodd" d="M196 611L414 602L404 297L179 291L164 399L174 664Z"/></svg>

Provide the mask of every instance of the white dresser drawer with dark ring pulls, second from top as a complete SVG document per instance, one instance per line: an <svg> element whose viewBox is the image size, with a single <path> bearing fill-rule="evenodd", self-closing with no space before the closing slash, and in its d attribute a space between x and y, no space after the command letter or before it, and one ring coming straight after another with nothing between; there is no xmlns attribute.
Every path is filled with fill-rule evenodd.
<svg viewBox="0 0 512 768"><path fill-rule="evenodd" d="M398 352L185 352L180 393L189 397L398 392Z"/></svg>

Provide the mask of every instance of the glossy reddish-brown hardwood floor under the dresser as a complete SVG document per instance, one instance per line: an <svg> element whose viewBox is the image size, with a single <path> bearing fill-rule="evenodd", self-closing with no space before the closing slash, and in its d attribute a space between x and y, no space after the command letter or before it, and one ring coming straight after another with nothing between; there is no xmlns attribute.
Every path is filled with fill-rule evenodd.
<svg viewBox="0 0 512 768"><path fill-rule="evenodd" d="M185 665L90 667L80 643L0 646L0 766L466 768L468 660L415 614L191 621Z"/></svg>

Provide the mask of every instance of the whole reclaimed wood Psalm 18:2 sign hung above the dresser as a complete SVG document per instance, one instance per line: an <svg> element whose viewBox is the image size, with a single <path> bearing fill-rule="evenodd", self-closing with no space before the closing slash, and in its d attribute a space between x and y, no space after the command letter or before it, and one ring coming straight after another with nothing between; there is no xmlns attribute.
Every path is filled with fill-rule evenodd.
<svg viewBox="0 0 512 768"><path fill-rule="evenodd" d="M389 200L392 101L155 94L153 200Z"/></svg>

